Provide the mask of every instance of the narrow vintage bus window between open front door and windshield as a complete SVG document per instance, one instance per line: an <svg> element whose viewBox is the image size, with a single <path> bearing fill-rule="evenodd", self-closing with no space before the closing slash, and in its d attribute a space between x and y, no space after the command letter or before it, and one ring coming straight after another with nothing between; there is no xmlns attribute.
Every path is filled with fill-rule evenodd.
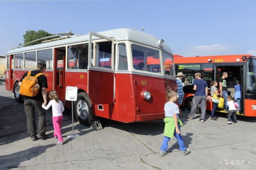
<svg viewBox="0 0 256 170"><path fill-rule="evenodd" d="M127 52L125 43L118 44L118 70L128 70Z"/></svg>

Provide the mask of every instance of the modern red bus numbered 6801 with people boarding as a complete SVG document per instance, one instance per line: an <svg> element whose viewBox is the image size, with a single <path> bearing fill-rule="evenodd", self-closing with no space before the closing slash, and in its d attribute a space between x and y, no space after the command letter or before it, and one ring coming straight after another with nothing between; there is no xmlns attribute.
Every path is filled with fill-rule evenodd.
<svg viewBox="0 0 256 170"><path fill-rule="evenodd" d="M184 86L183 106L189 111L194 96L193 80L194 74L200 72L202 79L208 83L210 92L210 82L218 81L222 72L228 72L234 75L237 81L240 80L241 91L241 113L238 115L256 116L256 57L251 55L218 55L218 56L198 56L182 57L174 55L176 72L183 72L188 79L189 85ZM209 93L210 95L210 93ZM211 111L212 103L207 101L206 110ZM223 109L217 108L218 112L224 112Z"/></svg>

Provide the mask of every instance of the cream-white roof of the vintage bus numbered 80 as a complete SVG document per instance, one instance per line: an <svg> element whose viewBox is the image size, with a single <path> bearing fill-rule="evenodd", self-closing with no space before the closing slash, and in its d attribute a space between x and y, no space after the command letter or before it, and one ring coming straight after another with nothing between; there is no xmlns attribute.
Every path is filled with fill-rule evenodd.
<svg viewBox="0 0 256 170"><path fill-rule="evenodd" d="M130 29L130 28L119 28L119 29L115 29L115 30L101 31L101 32L98 32L98 34L104 35L106 37L115 38L116 41L130 40L130 41L134 41L134 42L139 42L141 44L146 44L146 45L149 45L152 47L160 48L158 46L159 39L157 39L156 37L154 37L153 35L150 35L148 33ZM98 37L93 36L93 39L98 39ZM50 48L50 47L61 46L61 45L64 46L66 44L72 44L72 43L83 42L83 41L88 41L88 40L89 40L89 35L81 35L81 36L76 36L76 37L74 36L74 37L71 37L68 39L46 42L46 43L42 43L42 44L13 49L13 50L7 52L7 55L19 53L19 52L31 51L31 50L38 50L41 48L48 48L48 47ZM164 45L162 47L162 49L170 54L173 54L171 51L171 48L169 48L169 46L167 46L167 45Z"/></svg>

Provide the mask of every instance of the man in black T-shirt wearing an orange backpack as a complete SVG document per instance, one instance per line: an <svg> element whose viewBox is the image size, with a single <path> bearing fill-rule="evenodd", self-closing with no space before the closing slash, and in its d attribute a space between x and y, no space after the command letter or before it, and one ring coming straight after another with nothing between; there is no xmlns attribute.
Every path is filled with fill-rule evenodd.
<svg viewBox="0 0 256 170"><path fill-rule="evenodd" d="M45 109L47 103L47 78L42 74L46 70L46 64L37 63L37 69L26 72L19 82L20 94L24 95L24 108L27 116L27 127L30 138L34 141L37 138L47 138ZM30 75L28 75L30 74ZM22 84L23 81L23 84ZM32 85L32 87L31 87ZM35 109L38 114L38 129L35 129Z"/></svg>

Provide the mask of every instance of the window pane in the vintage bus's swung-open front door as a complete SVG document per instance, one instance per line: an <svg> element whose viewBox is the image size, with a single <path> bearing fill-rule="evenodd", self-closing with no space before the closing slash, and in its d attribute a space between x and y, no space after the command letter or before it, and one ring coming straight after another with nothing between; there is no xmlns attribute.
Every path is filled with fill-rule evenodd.
<svg viewBox="0 0 256 170"><path fill-rule="evenodd" d="M112 68L111 66L112 42L96 43L96 67Z"/></svg>

